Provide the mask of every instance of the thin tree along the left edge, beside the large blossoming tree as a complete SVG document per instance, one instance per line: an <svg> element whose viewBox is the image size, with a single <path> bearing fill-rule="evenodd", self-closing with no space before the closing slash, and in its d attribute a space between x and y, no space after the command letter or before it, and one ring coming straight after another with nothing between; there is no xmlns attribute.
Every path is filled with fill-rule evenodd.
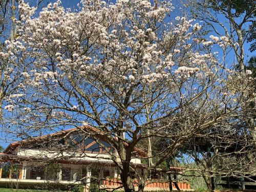
<svg viewBox="0 0 256 192"><path fill-rule="evenodd" d="M31 5L41 8L44 7L44 0L27 1ZM1 0L0 1L0 116L2 120L2 109L10 109L11 106L5 102L18 87L22 86L21 73L25 66L17 66L10 59L13 55L8 42L17 38L16 22L20 20L18 11L19 1ZM18 59L18 58L17 58Z"/></svg>

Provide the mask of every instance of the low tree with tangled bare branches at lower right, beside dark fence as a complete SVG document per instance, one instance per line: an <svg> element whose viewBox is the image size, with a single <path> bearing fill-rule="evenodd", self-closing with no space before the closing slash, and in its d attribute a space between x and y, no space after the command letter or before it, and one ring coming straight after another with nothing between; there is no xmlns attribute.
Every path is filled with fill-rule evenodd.
<svg viewBox="0 0 256 192"><path fill-rule="evenodd" d="M236 86L240 87L238 84ZM229 87L231 88L231 86ZM190 110L190 112L189 112ZM200 119L198 113L192 113L193 109L187 109L191 124ZM228 110L228 109L226 109ZM214 178L219 177L250 177L255 175L255 145L246 125L247 116L230 117L222 125L208 127L201 132L195 133L194 137L186 140L176 151L177 154L169 156L169 159L185 159L183 163L174 165L177 170L171 172L168 167L172 166L166 159L167 174L189 177L201 177L204 179L208 190L214 190ZM176 122L167 135L177 134L180 124L186 124L186 119ZM185 131L186 132L186 131ZM176 141L162 138L154 143L153 151L161 151L161 148L173 145ZM191 173L193 172L193 173ZM177 187L176 187L177 188Z"/></svg>

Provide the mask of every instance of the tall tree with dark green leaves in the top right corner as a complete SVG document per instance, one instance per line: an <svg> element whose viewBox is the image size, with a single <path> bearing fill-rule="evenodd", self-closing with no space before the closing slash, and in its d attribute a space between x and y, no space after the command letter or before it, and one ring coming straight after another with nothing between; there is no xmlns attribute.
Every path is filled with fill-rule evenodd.
<svg viewBox="0 0 256 192"><path fill-rule="evenodd" d="M236 55L239 69L244 68L244 44L255 39L255 2L246 0L189 0L192 15L200 20L219 36L227 36L232 53Z"/></svg>

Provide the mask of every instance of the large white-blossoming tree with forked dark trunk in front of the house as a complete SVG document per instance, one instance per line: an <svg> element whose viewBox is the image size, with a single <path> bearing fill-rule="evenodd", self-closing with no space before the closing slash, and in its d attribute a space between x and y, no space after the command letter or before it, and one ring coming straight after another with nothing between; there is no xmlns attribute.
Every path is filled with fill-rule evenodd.
<svg viewBox="0 0 256 192"><path fill-rule="evenodd" d="M167 1L89 0L74 12L58 1L34 17L28 4L19 8L19 37L7 45L12 62L26 69L23 85L7 99L11 131L24 138L90 123L117 152L105 148L125 191L134 191L131 159L141 140L174 141L155 155L151 168L157 169L188 138L242 114L236 100L249 87L232 84L250 80L210 52L219 38L202 44L194 20L170 22ZM187 109L198 114L193 123ZM174 124L176 133L168 135Z"/></svg>

